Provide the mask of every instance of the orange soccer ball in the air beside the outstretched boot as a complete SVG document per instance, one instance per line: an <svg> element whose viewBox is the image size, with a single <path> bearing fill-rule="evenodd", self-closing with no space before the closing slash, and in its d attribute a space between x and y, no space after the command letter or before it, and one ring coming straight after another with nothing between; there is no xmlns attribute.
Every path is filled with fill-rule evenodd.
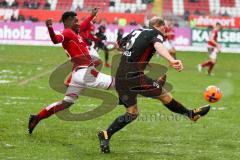
<svg viewBox="0 0 240 160"><path fill-rule="evenodd" d="M221 97L222 93L216 86L208 86L204 92L204 98L210 103L219 101Z"/></svg>

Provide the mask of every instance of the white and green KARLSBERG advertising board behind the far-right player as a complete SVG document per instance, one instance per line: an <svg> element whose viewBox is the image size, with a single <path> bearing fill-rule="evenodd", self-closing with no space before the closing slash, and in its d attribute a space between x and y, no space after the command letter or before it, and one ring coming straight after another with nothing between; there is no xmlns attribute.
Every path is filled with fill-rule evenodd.
<svg viewBox="0 0 240 160"><path fill-rule="evenodd" d="M210 29L193 28L192 29L192 46L207 46L207 41L211 35ZM240 30L223 29L218 36L218 42L223 48L240 48Z"/></svg>

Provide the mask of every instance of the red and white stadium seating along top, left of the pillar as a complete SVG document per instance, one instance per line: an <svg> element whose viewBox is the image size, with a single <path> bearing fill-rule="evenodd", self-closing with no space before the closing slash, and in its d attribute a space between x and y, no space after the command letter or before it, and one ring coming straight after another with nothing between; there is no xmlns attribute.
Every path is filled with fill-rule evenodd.
<svg viewBox="0 0 240 160"><path fill-rule="evenodd" d="M32 3L37 3L38 7L31 9L47 9L49 4L50 10L80 10L88 11L90 8L99 7L104 12L135 13L145 12L149 9L151 1L144 0L6 0L5 3L11 7L14 2L19 8L31 8ZM7 7L7 6L5 6Z"/></svg>

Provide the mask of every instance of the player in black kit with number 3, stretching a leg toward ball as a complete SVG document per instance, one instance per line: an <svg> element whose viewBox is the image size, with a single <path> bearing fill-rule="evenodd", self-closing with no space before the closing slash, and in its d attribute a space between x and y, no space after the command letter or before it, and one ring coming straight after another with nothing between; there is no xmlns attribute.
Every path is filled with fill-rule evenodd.
<svg viewBox="0 0 240 160"><path fill-rule="evenodd" d="M192 121L197 121L210 109L209 105L193 110L185 108L163 88L166 76L153 80L144 74L146 65L154 52L168 60L170 66L178 72L183 69L182 62L175 60L162 44L164 29L164 21L160 17L154 17L149 21L148 29L132 31L119 44L123 48L123 54L117 69L115 83L120 103L126 107L126 113L117 117L107 130L98 133L103 153L110 152L109 141L112 135L137 118L138 94L158 99L172 112L185 115Z"/></svg>

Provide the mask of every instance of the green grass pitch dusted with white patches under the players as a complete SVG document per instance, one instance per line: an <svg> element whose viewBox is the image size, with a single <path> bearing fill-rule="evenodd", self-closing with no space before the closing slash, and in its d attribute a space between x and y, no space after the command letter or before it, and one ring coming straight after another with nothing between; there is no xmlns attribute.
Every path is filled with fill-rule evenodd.
<svg viewBox="0 0 240 160"><path fill-rule="evenodd" d="M168 82L173 84L177 100L189 108L204 105L207 102L203 91L209 85L221 88L222 100L212 105L206 117L192 123L172 114L156 100L140 98L140 118L113 136L112 153L104 155L99 151L97 131L105 129L116 116L124 113L124 107L118 106L89 121L67 122L52 116L43 120L29 136L29 114L63 98L49 87L47 72L67 58L60 47L1 45L0 159L239 159L240 55L220 54L212 77L196 69L196 65L207 58L206 53L178 52L177 56L184 63L184 70L177 73L169 68L168 71ZM163 59L153 58L152 61L167 64ZM110 72L106 68L103 71ZM41 74L43 76L38 77ZM80 97L71 110L84 112L99 103L96 99Z"/></svg>

